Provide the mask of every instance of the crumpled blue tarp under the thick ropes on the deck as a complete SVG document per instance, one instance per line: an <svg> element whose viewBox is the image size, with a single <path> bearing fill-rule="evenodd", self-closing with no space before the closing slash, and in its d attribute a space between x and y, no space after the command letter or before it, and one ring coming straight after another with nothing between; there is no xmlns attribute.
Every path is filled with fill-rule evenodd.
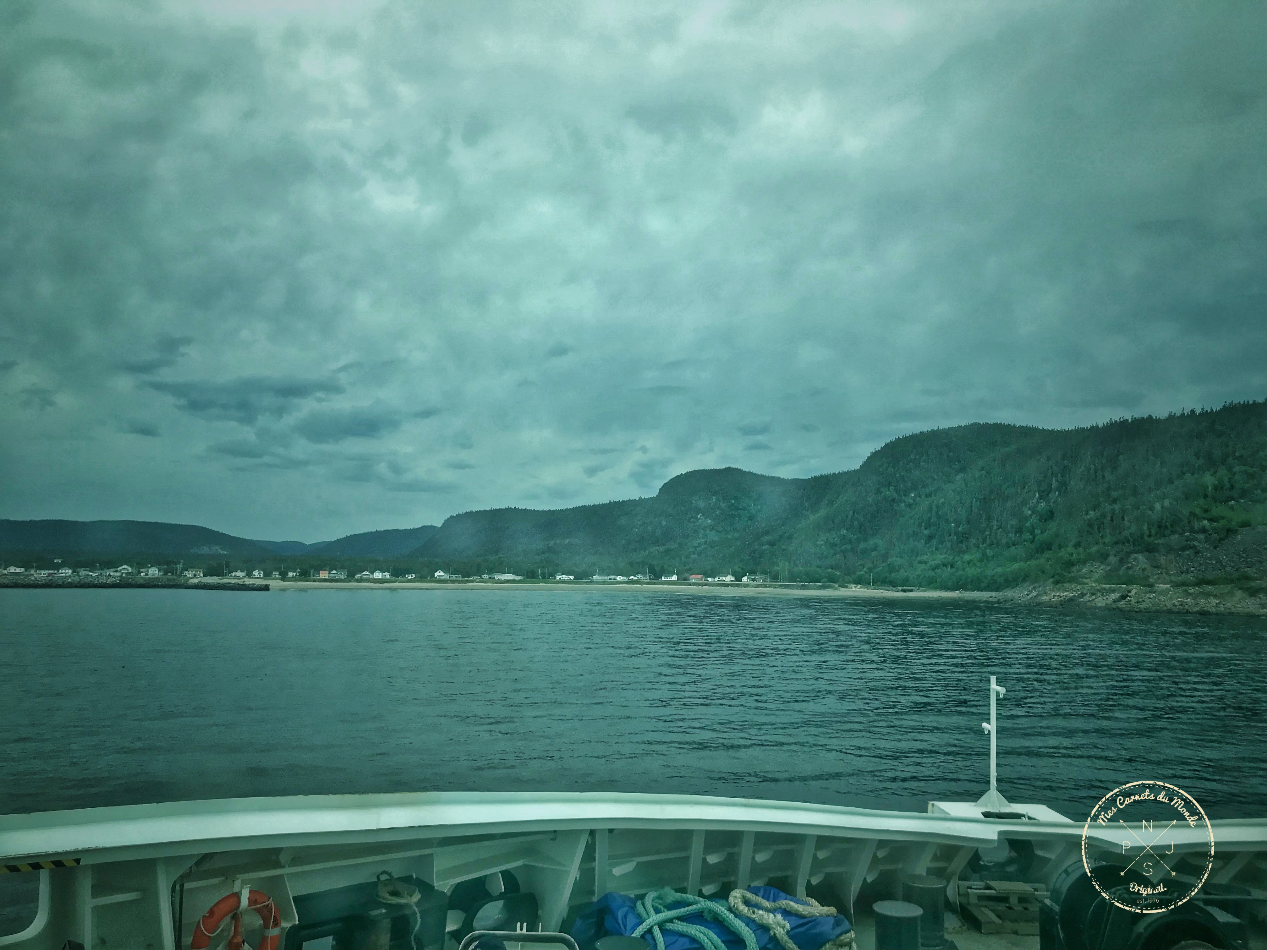
<svg viewBox="0 0 1267 950"><path fill-rule="evenodd" d="M789 897L777 888L750 887L748 890L770 902L796 901L797 903L805 903L805 901ZM715 898L713 902L727 906L726 901L718 898ZM634 898L626 897L625 894L603 894L595 903L594 911L597 916L595 922L598 922L602 926L602 930L607 934L631 936L642 923L642 918L639 916L637 908L634 904ZM788 922L791 927L788 930L788 936L792 939L792 942L799 947L799 950L818 950L818 947L829 940L835 940L841 934L849 932L849 921L839 913L835 917L798 917L797 915L788 913L786 911L774 911L774 913L783 917L783 920ZM748 920L746 917L740 917L740 920L753 931L756 937L756 945L760 950L782 950L780 944L765 927L760 926L755 921ZM702 913L680 917L678 918L678 922L696 923L701 927L707 927L722 939L722 942L726 944L729 950L744 950L744 941L737 934L731 931L726 925L710 920ZM580 920L578 920L576 926L573 927L573 937L575 937L582 945L584 945L585 937L589 936L589 932L585 932L585 928L587 925ZM684 934L674 934L664 927L660 928L660 934L664 936L664 950L702 950L696 940L685 936ZM650 950L655 950L655 937L650 934L650 931L644 934L642 939L647 942L647 947Z"/></svg>

